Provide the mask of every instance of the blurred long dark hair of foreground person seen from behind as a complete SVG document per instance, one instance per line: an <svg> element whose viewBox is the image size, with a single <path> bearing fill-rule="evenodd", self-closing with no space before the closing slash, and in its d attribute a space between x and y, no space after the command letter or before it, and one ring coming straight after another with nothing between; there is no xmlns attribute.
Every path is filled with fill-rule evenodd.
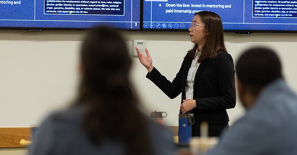
<svg viewBox="0 0 297 155"><path fill-rule="evenodd" d="M77 104L87 105L83 125L93 144L117 139L125 143L126 154L151 154L147 119L128 78L131 58L122 36L103 27L90 30L81 63L84 75Z"/></svg>

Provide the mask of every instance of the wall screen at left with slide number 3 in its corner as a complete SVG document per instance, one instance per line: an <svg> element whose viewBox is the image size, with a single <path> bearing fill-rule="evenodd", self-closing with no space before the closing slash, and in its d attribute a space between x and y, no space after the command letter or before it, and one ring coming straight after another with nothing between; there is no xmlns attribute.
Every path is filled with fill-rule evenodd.
<svg viewBox="0 0 297 155"><path fill-rule="evenodd" d="M3 0L0 29L140 30L140 0Z"/></svg>

